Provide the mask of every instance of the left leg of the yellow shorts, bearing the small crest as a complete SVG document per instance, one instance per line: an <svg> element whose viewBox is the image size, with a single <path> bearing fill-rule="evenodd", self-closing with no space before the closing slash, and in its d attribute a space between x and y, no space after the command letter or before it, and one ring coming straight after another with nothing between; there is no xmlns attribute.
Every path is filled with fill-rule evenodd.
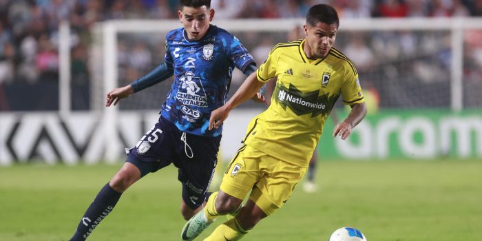
<svg viewBox="0 0 482 241"><path fill-rule="evenodd" d="M258 164L264 155L257 149L242 145L224 171L220 189L243 200L255 182L260 180L261 171Z"/></svg>

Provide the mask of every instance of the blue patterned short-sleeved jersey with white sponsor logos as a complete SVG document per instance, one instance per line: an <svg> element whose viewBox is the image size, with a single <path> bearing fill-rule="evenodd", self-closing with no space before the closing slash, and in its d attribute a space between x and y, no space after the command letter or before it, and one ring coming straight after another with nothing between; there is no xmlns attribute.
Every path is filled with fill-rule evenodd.
<svg viewBox="0 0 482 241"><path fill-rule="evenodd" d="M182 132L219 136L222 127L208 130L211 111L224 105L234 67L244 71L253 57L238 39L210 25L199 41L189 41L184 28L166 35L165 61L174 66L174 83L161 115Z"/></svg>

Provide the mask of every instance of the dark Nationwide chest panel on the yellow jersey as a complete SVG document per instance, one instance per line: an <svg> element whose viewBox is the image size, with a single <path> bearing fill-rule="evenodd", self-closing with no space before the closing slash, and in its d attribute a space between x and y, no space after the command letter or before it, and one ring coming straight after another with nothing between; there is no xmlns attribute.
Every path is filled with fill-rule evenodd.
<svg viewBox="0 0 482 241"><path fill-rule="evenodd" d="M338 96L328 97L328 94L318 96L319 90L303 93L293 84L290 84L289 88L279 84L273 94L277 96L275 101L283 109L289 107L297 116L311 113L311 117L328 114L338 98Z"/></svg>

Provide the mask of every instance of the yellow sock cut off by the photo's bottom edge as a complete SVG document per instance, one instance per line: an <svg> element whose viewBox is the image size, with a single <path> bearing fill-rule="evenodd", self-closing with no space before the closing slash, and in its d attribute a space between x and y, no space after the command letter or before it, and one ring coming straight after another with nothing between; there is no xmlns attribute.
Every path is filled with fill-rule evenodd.
<svg viewBox="0 0 482 241"><path fill-rule="evenodd" d="M219 225L204 241L240 240L247 233L238 220L233 218Z"/></svg>

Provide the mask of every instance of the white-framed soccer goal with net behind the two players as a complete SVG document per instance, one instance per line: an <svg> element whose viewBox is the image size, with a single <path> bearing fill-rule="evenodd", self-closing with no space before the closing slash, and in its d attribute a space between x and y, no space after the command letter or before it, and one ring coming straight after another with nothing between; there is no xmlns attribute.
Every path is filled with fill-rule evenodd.
<svg viewBox="0 0 482 241"><path fill-rule="evenodd" d="M259 64L276 43L296 39L294 29L301 28L304 19L215 19L213 24L238 37ZM140 20L96 25L91 104L105 113L106 128L117 121L118 112L153 111L164 103L172 79L130 96L116 108L103 107L108 90L163 63L165 35L181 26L178 21ZM341 19L335 48L355 63L366 97L381 109L457 111L482 106L481 19ZM242 81L244 75L236 71L230 95ZM242 107L263 108L249 103Z"/></svg>

